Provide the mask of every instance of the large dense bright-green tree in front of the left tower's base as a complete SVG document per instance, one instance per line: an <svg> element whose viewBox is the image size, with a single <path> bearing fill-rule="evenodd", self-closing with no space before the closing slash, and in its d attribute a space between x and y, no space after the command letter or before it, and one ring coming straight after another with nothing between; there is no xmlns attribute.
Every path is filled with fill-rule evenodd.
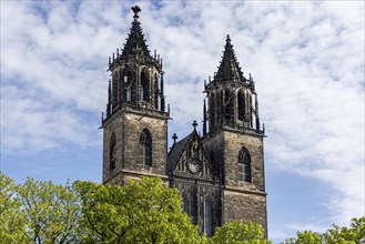
<svg viewBox="0 0 365 244"><path fill-rule="evenodd" d="M75 182L82 203L83 238L89 243L200 243L182 212L176 189L155 177L124 186Z"/></svg>

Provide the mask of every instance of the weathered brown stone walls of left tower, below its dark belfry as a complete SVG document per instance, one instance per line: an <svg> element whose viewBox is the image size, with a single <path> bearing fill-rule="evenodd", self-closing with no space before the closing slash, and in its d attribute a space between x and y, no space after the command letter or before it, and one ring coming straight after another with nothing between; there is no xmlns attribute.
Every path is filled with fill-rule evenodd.
<svg viewBox="0 0 365 244"><path fill-rule="evenodd" d="M130 175L133 172L165 175L168 154L168 123L163 115L145 115L144 112L122 109L105 121L103 134L103 182L109 183L118 175ZM152 166L143 163L143 149L140 143L141 132L148 129L152 135ZM115 167L110 169L110 142L115 136ZM122 173L123 172L123 173ZM122 174L121 174L122 173ZM122 180L124 183L125 180Z"/></svg>

